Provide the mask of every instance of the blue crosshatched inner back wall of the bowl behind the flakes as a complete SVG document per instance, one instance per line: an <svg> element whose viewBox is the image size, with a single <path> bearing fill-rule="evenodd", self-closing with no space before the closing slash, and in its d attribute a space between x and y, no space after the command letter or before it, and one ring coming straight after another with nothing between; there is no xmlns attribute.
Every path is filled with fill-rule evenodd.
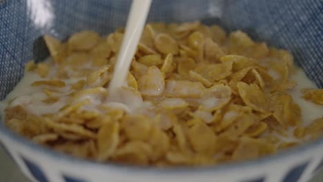
<svg viewBox="0 0 323 182"><path fill-rule="evenodd" d="M64 39L91 29L107 34L124 26L130 0L0 0L0 99L23 75L41 34ZM154 0L148 21L219 23L253 39L291 50L295 61L323 86L322 0Z"/></svg>

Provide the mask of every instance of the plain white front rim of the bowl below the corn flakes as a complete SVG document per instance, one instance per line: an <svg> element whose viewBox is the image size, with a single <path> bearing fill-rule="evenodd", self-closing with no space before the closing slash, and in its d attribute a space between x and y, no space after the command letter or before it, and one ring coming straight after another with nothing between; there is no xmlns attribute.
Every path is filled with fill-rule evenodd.
<svg viewBox="0 0 323 182"><path fill-rule="evenodd" d="M4 125L1 115L0 115L0 132L8 136L9 139L14 140L16 143L19 143L24 148L28 148L29 150L37 150L37 152L41 152L43 156L59 160L59 161L67 161L68 163L77 163L78 165L95 165L95 167L100 167L102 169L114 169L114 170L126 170L127 172L155 172L155 173L188 173L188 172L220 172L223 170L236 170L237 168L246 168L252 167L254 165L260 165L264 163L269 163L273 161L277 161L279 159L284 159L284 157L294 154L300 154L302 152L306 152L311 150L319 145L323 146L323 138L316 139L315 141L310 141L308 143L304 143L302 145L298 145L295 148L291 148L288 150L277 152L276 154L271 154L267 156L262 156L258 159L246 160L246 161L236 161L229 163L222 163L218 165L206 165L206 166L166 166L165 168L155 167L153 165L140 166L140 165L126 165L122 163L116 162L99 162L91 159L81 159L76 156L72 156L69 154L64 154L61 152L57 152L48 148L46 146L37 144L32 142L30 139L21 136L14 131L7 128ZM0 138L0 141L3 142L3 139ZM4 146L6 148L6 145ZM10 152L9 152L10 153Z"/></svg>

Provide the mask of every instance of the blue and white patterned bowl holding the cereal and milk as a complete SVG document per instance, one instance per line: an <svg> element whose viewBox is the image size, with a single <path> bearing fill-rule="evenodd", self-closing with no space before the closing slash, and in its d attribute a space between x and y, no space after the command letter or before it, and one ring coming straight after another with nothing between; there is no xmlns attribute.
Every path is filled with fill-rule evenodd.
<svg viewBox="0 0 323 182"><path fill-rule="evenodd" d="M139 1L139 0L135 0ZM42 34L61 39L91 29L107 34L124 26L131 1L0 0L0 100L23 76L23 65L42 50ZM293 52L306 74L323 86L322 0L155 0L148 21L220 23ZM0 139L33 181L307 181L323 165L323 140L255 161L202 168L143 168L101 164L58 154L10 132L0 122Z"/></svg>

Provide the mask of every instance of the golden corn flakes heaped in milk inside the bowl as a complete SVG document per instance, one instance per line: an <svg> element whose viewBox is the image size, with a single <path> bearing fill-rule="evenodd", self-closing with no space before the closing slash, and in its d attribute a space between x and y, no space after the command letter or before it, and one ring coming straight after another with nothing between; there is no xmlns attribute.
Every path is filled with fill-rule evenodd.
<svg viewBox="0 0 323 182"><path fill-rule="evenodd" d="M122 28L108 37L85 30L66 42L46 35L52 61L30 61L26 72L41 77L32 87L46 94L43 104L64 105L47 114L8 107L6 125L59 152L155 166L255 159L323 132L323 117L303 125L288 94L289 52L199 22L148 23L115 101L106 88L123 36ZM323 104L322 89L303 91Z"/></svg>

